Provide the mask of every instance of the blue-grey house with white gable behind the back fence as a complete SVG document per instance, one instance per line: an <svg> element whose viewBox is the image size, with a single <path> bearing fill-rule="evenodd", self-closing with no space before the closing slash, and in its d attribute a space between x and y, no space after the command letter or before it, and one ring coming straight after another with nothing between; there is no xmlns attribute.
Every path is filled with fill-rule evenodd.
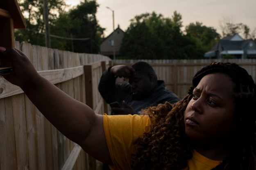
<svg viewBox="0 0 256 170"><path fill-rule="evenodd" d="M212 49L204 54L208 58L256 58L256 42L244 40L238 34L221 39Z"/></svg>

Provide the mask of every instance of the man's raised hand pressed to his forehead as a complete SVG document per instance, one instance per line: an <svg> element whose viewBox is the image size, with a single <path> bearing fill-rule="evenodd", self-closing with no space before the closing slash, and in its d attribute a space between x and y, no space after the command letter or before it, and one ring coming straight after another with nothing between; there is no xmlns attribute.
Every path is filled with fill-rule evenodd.
<svg viewBox="0 0 256 170"><path fill-rule="evenodd" d="M131 74L136 74L135 69L129 65L115 65L111 67L109 72L114 76L118 76L120 78L129 78Z"/></svg>

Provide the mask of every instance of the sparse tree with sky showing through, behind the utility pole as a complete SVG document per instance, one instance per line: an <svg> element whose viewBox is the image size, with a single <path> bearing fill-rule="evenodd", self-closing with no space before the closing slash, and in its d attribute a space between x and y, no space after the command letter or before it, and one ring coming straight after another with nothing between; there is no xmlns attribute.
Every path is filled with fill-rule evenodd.
<svg viewBox="0 0 256 170"><path fill-rule="evenodd" d="M24 15L27 29L15 31L15 39L20 42L29 42L33 45L45 46L45 25L43 20L43 0L18 0ZM66 4L63 0L48 1L49 24L52 25Z"/></svg>

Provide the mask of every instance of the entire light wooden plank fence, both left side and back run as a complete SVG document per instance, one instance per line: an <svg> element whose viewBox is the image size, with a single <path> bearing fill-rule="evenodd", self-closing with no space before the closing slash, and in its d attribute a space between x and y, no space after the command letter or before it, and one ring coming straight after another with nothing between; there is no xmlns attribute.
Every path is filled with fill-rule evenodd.
<svg viewBox="0 0 256 170"><path fill-rule="evenodd" d="M78 54L16 42L40 75L71 97L86 103L96 113L109 106L97 86L102 72L117 64L98 54ZM146 60L166 87L181 98L194 74L215 60ZM238 63L256 80L256 60L217 60ZM119 80L120 81L120 80ZM121 81L120 81L121 82ZM40 97L40 96L39 96ZM95 159L67 139L36 109L23 91L0 77L0 170L96 170Z"/></svg>

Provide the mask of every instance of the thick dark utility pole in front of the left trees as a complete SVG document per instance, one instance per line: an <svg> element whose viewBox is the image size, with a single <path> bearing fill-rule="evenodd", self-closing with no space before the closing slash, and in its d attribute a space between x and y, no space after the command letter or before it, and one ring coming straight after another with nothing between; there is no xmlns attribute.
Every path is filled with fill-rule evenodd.
<svg viewBox="0 0 256 170"><path fill-rule="evenodd" d="M45 22L45 46L47 48L50 48L51 40L50 40L50 26L49 26L48 15L49 15L48 0L43 0L43 18Z"/></svg>

